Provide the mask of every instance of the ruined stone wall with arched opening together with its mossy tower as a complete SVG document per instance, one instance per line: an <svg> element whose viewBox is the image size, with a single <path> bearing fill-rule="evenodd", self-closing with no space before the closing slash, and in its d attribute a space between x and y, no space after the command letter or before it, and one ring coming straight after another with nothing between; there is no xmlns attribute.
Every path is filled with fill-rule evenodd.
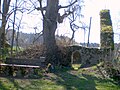
<svg viewBox="0 0 120 90"><path fill-rule="evenodd" d="M69 46L70 52L68 56L71 56L72 63L80 61L83 67L87 67L98 64L100 60L109 61L112 59L111 57L114 50L114 33L110 11L108 9L100 11L100 26L100 49ZM74 53L76 51L79 52L79 54Z"/></svg>

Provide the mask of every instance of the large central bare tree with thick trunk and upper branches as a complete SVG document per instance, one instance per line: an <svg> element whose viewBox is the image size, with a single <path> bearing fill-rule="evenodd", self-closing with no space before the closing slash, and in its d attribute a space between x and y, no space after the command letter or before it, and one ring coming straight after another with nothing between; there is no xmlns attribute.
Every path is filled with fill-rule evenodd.
<svg viewBox="0 0 120 90"><path fill-rule="evenodd" d="M46 2L44 0L38 1L40 7L37 7L36 9L40 10L43 16L43 39L47 50L46 61L47 63L52 63L55 65L58 64L61 59L55 40L57 23L62 23L66 17L72 15L73 19L71 19L70 26L72 28L74 36L75 31L73 27L76 29L79 27L75 25L75 23L73 24L73 22L77 19L77 16L81 14L76 11L81 10L80 2L82 2L82 0L71 0L70 3L66 6L59 5L60 0L46 0ZM63 15L60 14L60 9L66 9Z"/></svg>

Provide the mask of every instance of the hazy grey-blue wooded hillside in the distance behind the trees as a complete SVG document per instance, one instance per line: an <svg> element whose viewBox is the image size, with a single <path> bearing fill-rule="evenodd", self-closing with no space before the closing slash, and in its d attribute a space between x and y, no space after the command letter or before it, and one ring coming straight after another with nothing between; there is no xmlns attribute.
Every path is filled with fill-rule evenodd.
<svg viewBox="0 0 120 90"><path fill-rule="evenodd" d="M15 40L14 40L14 46L16 46L16 37L17 33L15 34ZM6 38L8 42L11 44L12 41L12 31L9 30L6 34ZM63 42L64 44L68 44L70 38L67 36L58 36L56 35L56 40ZM19 32L19 37L18 37L18 45L20 47L27 47L32 44L42 44L43 43L43 37L40 36L39 33L23 33ZM87 46L87 43L79 43L73 40L72 44L77 44L81 46ZM115 47L117 48L120 46L120 43L115 43ZM89 43L89 47L100 47L98 43Z"/></svg>

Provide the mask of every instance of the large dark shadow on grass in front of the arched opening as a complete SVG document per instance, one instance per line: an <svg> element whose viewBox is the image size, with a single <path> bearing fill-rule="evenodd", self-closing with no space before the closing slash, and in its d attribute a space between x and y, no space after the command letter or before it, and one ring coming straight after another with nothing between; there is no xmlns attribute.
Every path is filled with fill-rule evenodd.
<svg viewBox="0 0 120 90"><path fill-rule="evenodd" d="M64 86L65 90L97 90L96 81L102 84L107 82L113 83L112 81L103 80L89 74L75 74L75 71L57 71L55 74L59 77L56 79L56 83Z"/></svg>

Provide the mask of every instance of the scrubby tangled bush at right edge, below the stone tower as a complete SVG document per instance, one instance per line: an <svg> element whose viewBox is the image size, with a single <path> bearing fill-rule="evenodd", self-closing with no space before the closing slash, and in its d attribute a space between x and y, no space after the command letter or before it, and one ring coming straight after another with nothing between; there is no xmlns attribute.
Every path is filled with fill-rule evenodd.
<svg viewBox="0 0 120 90"><path fill-rule="evenodd" d="M114 57L111 60L104 60L104 70L107 76L120 84L120 52L119 49L114 51Z"/></svg>

